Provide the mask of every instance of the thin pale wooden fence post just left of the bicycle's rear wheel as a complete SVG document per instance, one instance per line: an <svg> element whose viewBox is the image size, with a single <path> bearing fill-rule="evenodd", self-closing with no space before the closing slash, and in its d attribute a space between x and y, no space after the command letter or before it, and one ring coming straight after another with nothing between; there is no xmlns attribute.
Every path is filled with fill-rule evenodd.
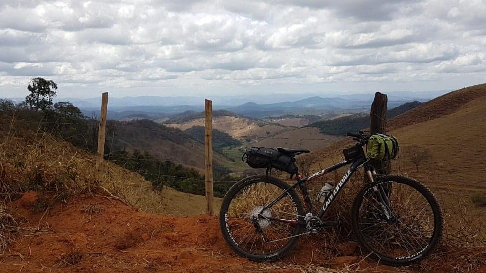
<svg viewBox="0 0 486 273"><path fill-rule="evenodd" d="M206 122L204 126L204 161L206 165L206 213L213 215L213 102L204 100Z"/></svg>

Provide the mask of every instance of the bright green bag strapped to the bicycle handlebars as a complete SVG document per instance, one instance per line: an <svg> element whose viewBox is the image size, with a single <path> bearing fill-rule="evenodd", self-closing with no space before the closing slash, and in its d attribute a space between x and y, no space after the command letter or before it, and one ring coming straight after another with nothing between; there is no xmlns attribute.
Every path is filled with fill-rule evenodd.
<svg viewBox="0 0 486 273"><path fill-rule="evenodd" d="M384 134L374 134L369 137L366 145L366 155L371 159L388 160L398 156L398 140Z"/></svg>

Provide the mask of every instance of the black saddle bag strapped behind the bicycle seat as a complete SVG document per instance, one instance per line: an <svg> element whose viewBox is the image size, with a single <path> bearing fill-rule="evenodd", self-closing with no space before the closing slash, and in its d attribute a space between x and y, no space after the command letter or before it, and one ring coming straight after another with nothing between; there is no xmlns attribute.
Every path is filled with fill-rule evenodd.
<svg viewBox="0 0 486 273"><path fill-rule="evenodd" d="M289 174L297 174L298 172L293 156L283 154L272 148L251 147L244 152L242 160L246 161L246 164L251 168L275 168Z"/></svg>

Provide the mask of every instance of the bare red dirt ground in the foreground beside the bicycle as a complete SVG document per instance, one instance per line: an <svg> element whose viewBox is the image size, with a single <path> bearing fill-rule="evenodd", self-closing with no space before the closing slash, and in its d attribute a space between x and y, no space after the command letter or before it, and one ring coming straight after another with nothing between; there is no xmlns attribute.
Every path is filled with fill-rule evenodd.
<svg viewBox="0 0 486 273"><path fill-rule="evenodd" d="M11 209L20 216L24 230L0 254L2 272L250 272L269 266L273 272L293 272L278 269L279 265L313 262L342 268L359 260L356 256L322 260L304 241L299 255L294 252L273 264L252 263L227 246L214 217L148 214L105 197L76 197L55 205L44 217L21 199ZM39 222L40 231L33 231ZM376 272L376 265L360 266Z"/></svg>

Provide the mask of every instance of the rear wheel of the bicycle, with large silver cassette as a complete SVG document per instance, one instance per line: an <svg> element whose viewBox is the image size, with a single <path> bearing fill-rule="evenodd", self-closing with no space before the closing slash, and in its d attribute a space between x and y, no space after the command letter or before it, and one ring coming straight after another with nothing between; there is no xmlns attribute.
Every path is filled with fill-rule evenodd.
<svg viewBox="0 0 486 273"><path fill-rule="evenodd" d="M252 261L273 261L295 246L302 230L296 221L303 220L304 214L295 190L288 190L279 201L263 210L288 188L277 178L254 176L228 190L221 204L220 228L235 252Z"/></svg>

